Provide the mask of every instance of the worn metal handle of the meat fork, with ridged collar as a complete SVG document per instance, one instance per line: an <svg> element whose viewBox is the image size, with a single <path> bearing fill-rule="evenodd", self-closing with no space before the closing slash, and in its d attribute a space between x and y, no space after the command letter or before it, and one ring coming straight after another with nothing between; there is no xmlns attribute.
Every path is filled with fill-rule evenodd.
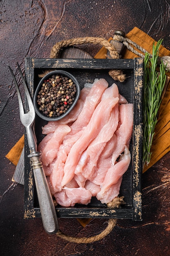
<svg viewBox="0 0 170 256"><path fill-rule="evenodd" d="M42 223L45 231L48 234L57 233L59 226L57 220L57 214L53 204L53 199L49 190L49 186L42 168L42 162L40 160L41 153L36 152L28 155L31 159L31 165L33 168L33 174L35 179L35 185L37 189L38 201L40 205L40 211L42 216Z"/></svg>

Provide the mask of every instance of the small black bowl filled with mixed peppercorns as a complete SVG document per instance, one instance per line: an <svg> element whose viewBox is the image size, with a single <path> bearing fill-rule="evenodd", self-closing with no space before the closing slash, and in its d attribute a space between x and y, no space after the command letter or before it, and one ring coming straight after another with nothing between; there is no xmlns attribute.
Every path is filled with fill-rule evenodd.
<svg viewBox="0 0 170 256"><path fill-rule="evenodd" d="M77 79L64 70L46 74L35 90L35 112L46 121L57 121L68 115L80 95Z"/></svg>

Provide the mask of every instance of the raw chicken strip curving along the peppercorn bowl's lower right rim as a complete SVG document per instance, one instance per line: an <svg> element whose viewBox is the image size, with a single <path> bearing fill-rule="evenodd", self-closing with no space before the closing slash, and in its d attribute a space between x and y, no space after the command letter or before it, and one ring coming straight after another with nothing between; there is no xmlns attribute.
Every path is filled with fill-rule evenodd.
<svg viewBox="0 0 170 256"><path fill-rule="evenodd" d="M55 132L55 129L60 124L72 124L73 121L77 119L79 114L81 113L84 101L89 94L90 89L89 88L83 88L80 92L79 100L77 101L77 104L73 108L73 110L64 118L58 120L58 121L49 121L48 124L46 124L44 127L42 127L42 134L48 134L50 132Z"/></svg>

